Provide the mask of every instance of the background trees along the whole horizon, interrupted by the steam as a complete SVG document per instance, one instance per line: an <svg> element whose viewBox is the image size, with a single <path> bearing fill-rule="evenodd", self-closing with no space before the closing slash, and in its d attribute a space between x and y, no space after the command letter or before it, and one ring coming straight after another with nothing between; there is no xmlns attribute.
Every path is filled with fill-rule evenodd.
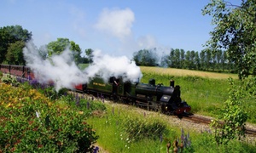
<svg viewBox="0 0 256 153"><path fill-rule="evenodd" d="M10 65L25 65L22 50L26 42L32 39L32 32L23 29L22 26L0 27L0 63ZM39 48L38 53L43 59L50 58L52 54L61 54L65 48L69 47L73 51L74 60L77 64L93 62L93 52L91 48L84 50L85 57L79 44L70 41L68 38L57 38L56 41L49 42ZM137 65L145 66L165 66L179 69L201 70L201 71L230 71L235 70L235 65L230 62L226 51L222 50L202 50L200 53L184 51L183 49L171 49L170 54L159 56L160 49L142 49L133 54L133 60Z"/></svg>

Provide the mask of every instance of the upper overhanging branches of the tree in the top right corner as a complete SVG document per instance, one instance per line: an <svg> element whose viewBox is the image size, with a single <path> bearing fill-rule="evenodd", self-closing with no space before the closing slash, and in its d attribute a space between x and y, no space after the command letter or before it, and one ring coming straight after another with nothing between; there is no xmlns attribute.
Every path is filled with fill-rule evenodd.
<svg viewBox="0 0 256 153"><path fill-rule="evenodd" d="M256 3L242 0L235 5L222 0L212 0L202 10L212 15L211 39L207 45L212 50L224 49L235 62L238 76L243 79L256 75Z"/></svg>

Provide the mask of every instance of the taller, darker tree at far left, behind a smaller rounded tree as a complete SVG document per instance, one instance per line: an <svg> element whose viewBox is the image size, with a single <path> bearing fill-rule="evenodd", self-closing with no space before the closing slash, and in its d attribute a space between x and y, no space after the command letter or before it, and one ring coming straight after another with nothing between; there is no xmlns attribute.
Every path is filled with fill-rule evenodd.
<svg viewBox="0 0 256 153"><path fill-rule="evenodd" d="M0 28L0 63L6 59L8 48L11 43L17 41L28 42L32 38L32 32L23 29L22 26L4 26ZM19 46L19 45L18 45ZM12 46L13 50L14 46Z"/></svg>

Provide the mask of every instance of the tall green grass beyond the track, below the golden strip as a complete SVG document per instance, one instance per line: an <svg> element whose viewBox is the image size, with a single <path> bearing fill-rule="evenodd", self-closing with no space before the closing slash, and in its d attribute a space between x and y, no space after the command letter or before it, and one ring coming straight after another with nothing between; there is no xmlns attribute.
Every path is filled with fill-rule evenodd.
<svg viewBox="0 0 256 153"><path fill-rule="evenodd" d="M229 98L228 79L214 79L198 76L172 76L169 74L157 74L143 71L141 82L148 82L150 78L155 79L155 83L170 85L170 80L174 80L176 85L181 86L181 98L191 105L191 112L207 116L218 116L223 108L224 102ZM239 83L238 80L235 80ZM256 123L255 99L247 99L243 104L248 113L248 122Z"/></svg>

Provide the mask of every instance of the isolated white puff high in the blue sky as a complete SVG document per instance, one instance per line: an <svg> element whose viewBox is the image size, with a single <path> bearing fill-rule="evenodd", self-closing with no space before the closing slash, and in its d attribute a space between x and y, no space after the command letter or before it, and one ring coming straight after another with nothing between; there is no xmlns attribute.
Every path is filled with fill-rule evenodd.
<svg viewBox="0 0 256 153"><path fill-rule="evenodd" d="M96 23L96 29L107 32L114 37L124 38L131 35L131 27L135 20L130 8L103 9Z"/></svg>

